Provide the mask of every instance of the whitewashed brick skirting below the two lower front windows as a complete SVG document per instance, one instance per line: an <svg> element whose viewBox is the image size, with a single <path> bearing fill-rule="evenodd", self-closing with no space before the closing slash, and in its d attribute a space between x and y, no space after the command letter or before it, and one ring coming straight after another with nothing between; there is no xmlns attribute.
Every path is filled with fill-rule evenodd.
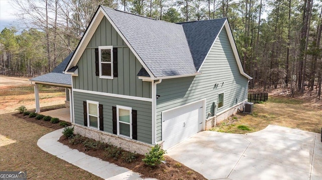
<svg viewBox="0 0 322 180"><path fill-rule="evenodd" d="M121 137L115 134L110 134L104 131L100 131L97 129L93 129L90 127L74 124L74 133L80 134L85 137L93 138L95 140L99 140L102 142L110 143L117 147L121 147L124 150L130 152L136 152L139 154L145 154L148 152L152 145L146 144L137 140L128 139L125 137Z"/></svg>

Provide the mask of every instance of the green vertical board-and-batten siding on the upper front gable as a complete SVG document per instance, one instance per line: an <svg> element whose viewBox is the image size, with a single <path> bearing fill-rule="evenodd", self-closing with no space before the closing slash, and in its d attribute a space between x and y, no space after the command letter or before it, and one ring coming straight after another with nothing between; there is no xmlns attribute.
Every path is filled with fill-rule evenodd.
<svg viewBox="0 0 322 180"><path fill-rule="evenodd" d="M95 75L95 48L99 46L117 48L118 77L113 80ZM74 89L151 98L151 82L143 82L136 76L142 65L106 18L103 18L77 65Z"/></svg>

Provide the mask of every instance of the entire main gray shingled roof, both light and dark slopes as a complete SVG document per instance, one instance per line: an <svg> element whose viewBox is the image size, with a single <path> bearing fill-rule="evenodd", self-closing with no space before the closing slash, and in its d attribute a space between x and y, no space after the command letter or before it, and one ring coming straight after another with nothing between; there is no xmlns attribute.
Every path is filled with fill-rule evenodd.
<svg viewBox="0 0 322 180"><path fill-rule="evenodd" d="M196 73L226 20L174 24L102 8L155 77Z"/></svg>

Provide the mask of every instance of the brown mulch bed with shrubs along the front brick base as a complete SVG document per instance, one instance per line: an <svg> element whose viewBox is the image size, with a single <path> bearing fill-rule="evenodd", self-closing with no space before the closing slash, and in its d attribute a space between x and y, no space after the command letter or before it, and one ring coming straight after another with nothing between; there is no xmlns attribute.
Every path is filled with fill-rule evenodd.
<svg viewBox="0 0 322 180"><path fill-rule="evenodd" d="M82 137L82 138L89 139L86 137ZM91 140L95 141L94 139L91 139ZM142 177L151 177L151 178L157 178L157 179L206 179L200 173L190 169L189 167L170 158L169 156L165 156L165 161L167 163L162 163L152 168L145 165L144 162L142 161L142 159L144 158L144 155L137 154L137 158L134 161L124 162L124 160L120 157L118 158L109 157L107 150L105 150L107 147L100 148L100 149L89 149L85 147L82 143L77 143L77 144L69 143L69 139L65 138L64 136L60 137L59 142L69 146L72 149L77 149L81 152L84 152L90 156L98 157L102 160L109 161L119 166L129 168L135 172L139 172L142 174ZM108 145L104 145L104 146L108 146ZM126 151L122 151L122 152L126 152ZM122 154L122 152L120 152L120 154Z"/></svg>

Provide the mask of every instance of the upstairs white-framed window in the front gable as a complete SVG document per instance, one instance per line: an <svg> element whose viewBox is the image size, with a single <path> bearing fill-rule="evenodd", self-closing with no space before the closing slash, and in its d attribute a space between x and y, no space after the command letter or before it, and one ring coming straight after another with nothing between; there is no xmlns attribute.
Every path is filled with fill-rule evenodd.
<svg viewBox="0 0 322 180"><path fill-rule="evenodd" d="M100 78L113 79L113 46L99 46Z"/></svg>

